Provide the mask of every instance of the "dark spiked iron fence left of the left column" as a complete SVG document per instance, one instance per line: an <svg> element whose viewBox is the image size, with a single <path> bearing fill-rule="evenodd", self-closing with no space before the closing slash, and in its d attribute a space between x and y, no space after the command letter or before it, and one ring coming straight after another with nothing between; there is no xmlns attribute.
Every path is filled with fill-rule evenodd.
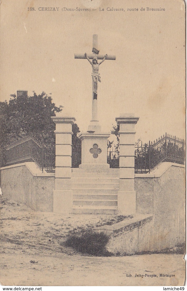
<svg viewBox="0 0 187 291"><path fill-rule="evenodd" d="M6 146L6 165L34 162L43 172L55 167L55 147L45 148L43 140L27 136Z"/></svg>

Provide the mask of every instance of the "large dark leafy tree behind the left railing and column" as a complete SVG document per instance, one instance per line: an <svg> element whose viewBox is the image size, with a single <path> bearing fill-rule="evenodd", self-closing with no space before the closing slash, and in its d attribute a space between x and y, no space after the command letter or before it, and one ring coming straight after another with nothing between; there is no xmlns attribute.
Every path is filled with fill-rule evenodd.
<svg viewBox="0 0 187 291"><path fill-rule="evenodd" d="M57 107L52 102L51 94L45 92L37 95L33 91L33 96L16 96L10 95L9 103L5 100L0 102L0 154L1 165L5 156L5 146L7 143L13 142L28 134L43 139L46 148L55 145L55 123L51 116L55 116L56 112L60 112L63 106ZM79 140L77 133L79 127L74 124L72 141L74 147L78 147Z"/></svg>

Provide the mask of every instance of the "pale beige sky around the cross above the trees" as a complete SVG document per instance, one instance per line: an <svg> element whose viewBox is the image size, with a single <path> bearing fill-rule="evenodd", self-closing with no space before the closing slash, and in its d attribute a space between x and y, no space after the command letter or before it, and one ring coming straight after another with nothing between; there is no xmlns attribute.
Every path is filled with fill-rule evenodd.
<svg viewBox="0 0 187 291"><path fill-rule="evenodd" d="M52 93L54 103L63 105L86 131L92 115L92 68L86 59L74 59L74 53L91 53L96 33L100 53L116 55L115 61L99 66L102 131L109 132L115 117L129 112L140 117L136 139L146 142L165 132L185 139L184 1L93 2L2 1L0 100L9 100L17 90ZM63 7L90 12L62 11ZM146 11L147 7L165 11Z"/></svg>

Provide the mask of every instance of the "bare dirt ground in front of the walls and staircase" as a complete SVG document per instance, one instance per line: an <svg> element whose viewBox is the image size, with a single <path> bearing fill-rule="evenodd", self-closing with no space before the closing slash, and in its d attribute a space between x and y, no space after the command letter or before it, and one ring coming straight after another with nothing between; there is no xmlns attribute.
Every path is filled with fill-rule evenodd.
<svg viewBox="0 0 187 291"><path fill-rule="evenodd" d="M114 219L115 215L64 216L52 212L35 212L26 205L6 200L3 196L0 201L1 285L184 285L183 255L88 257L61 245L69 230L82 226L99 226ZM160 274L174 276L163 277Z"/></svg>

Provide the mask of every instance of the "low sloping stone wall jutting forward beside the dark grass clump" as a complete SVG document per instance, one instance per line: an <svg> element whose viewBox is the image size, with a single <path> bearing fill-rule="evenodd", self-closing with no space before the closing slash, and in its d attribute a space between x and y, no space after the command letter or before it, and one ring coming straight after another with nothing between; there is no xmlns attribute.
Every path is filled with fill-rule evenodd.
<svg viewBox="0 0 187 291"><path fill-rule="evenodd" d="M173 248L177 242L177 228L172 230L168 226L159 226L154 222L153 216L147 215L145 218L139 218L140 214L133 217L135 222L128 222L129 225L122 226L122 223L115 223L113 229L111 226L101 229L111 236L107 250L112 253L120 254L138 254L145 252L162 251L163 249ZM102 227L101 227L102 228ZM183 239L185 239L183 237ZM183 243L185 240L183 240Z"/></svg>

